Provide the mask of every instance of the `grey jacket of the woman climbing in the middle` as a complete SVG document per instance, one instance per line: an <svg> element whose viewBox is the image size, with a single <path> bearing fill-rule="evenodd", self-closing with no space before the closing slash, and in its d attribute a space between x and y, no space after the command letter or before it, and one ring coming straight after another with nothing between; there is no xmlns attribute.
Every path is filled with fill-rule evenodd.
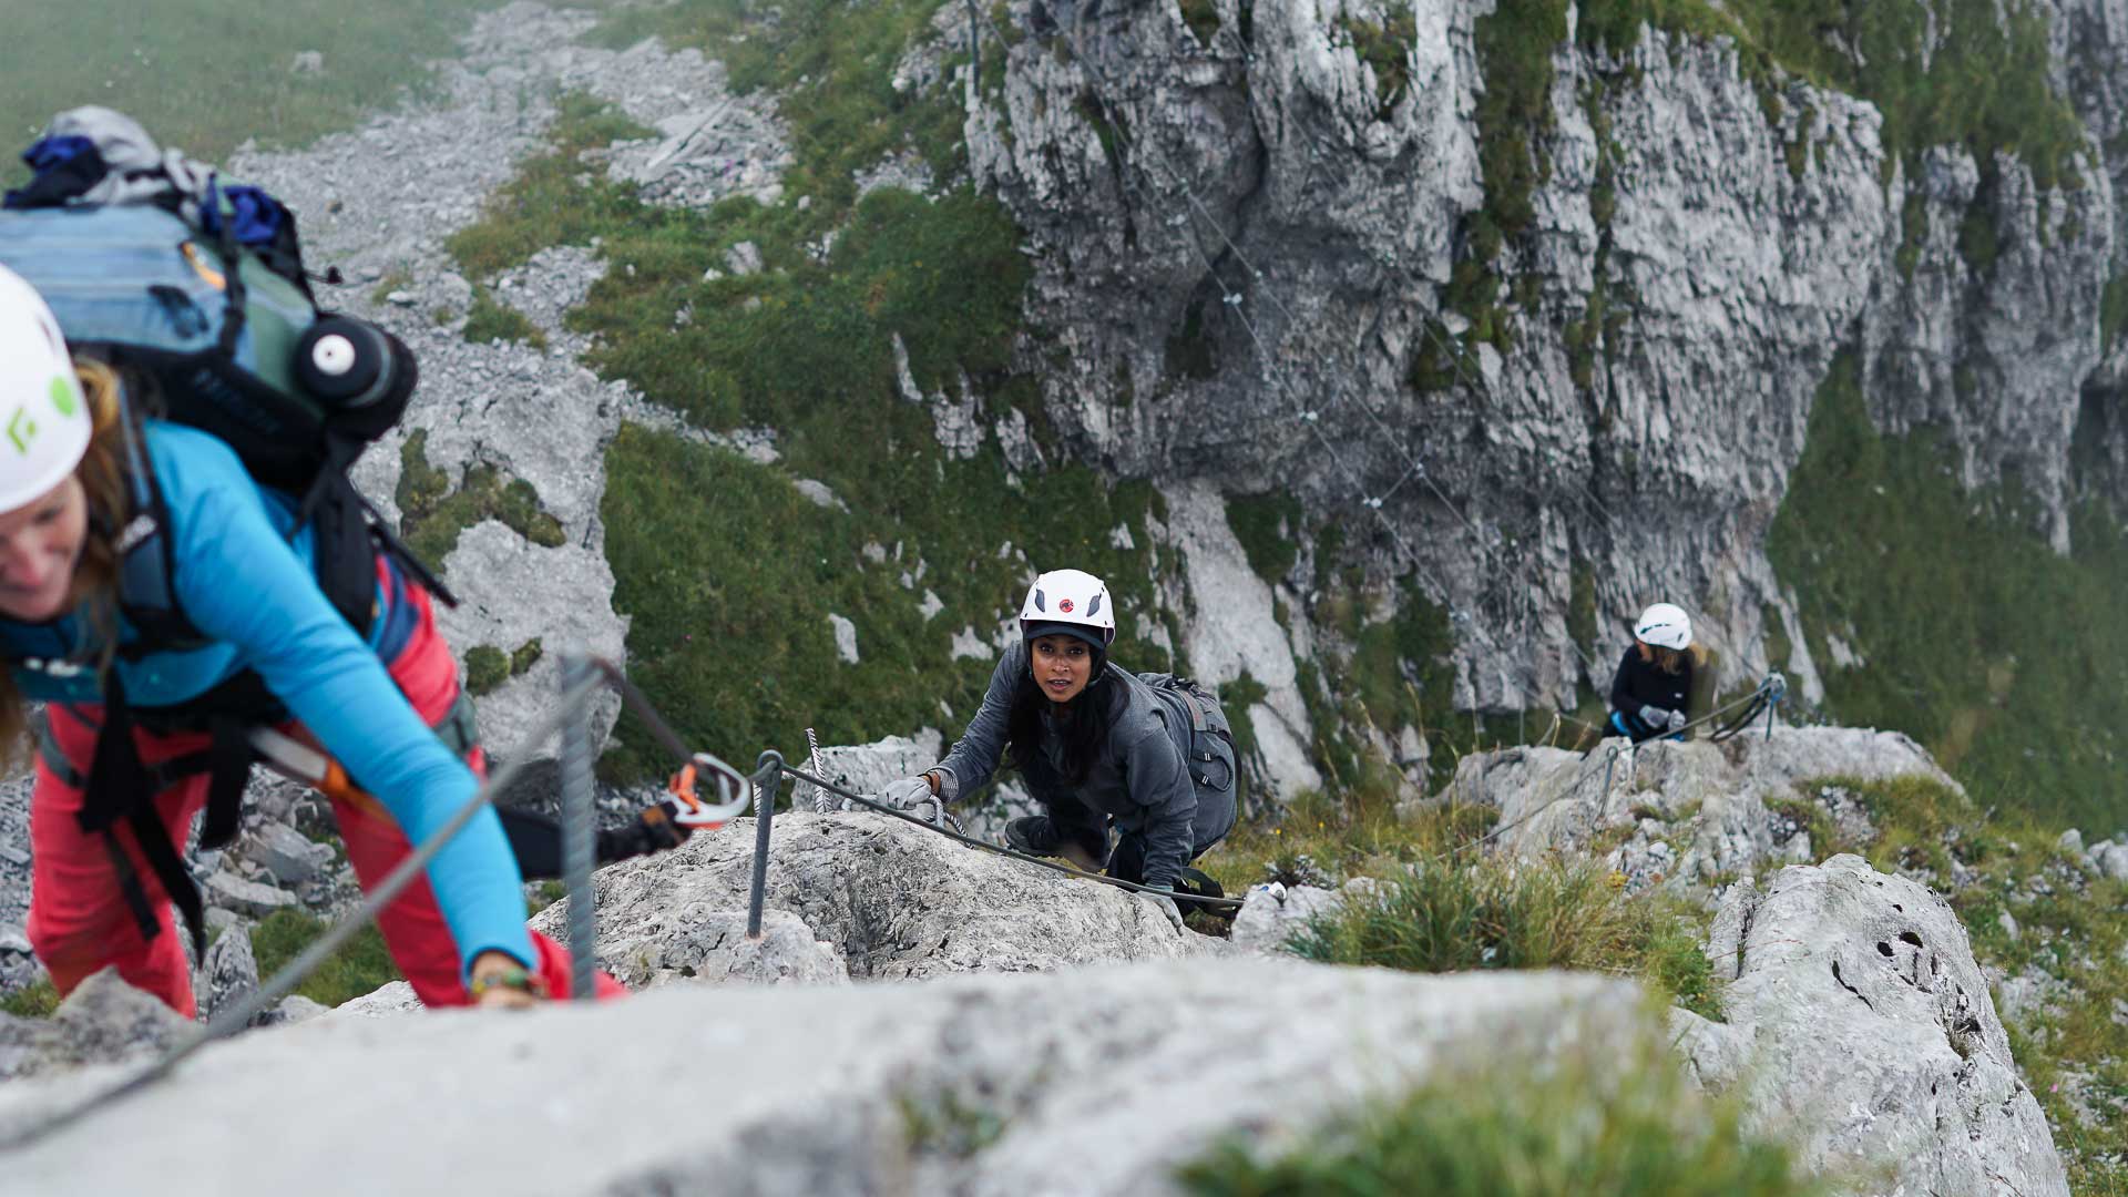
<svg viewBox="0 0 2128 1197"><path fill-rule="evenodd" d="M1015 643L998 660L983 692L983 709L968 720L960 743L934 765L938 790L947 799L990 782L1004 756L1013 690L1028 671L1028 647ZM1062 741L1043 739L1043 756L1026 769L1036 799L1060 803L1077 799L1094 811L1115 818L1124 833L1145 837L1145 884L1173 886L1200 846L1217 841L1230 826L1196 829L1198 794L1190 775L1190 696L1179 690L1149 686L1138 675L1109 665L1100 686L1121 686L1124 699L1109 726L1109 748L1087 767L1085 782L1070 786L1058 769ZM1221 724L1224 726L1224 724ZM1232 760L1213 763L1226 769L1232 786ZM1232 814L1221 811L1232 824Z"/></svg>

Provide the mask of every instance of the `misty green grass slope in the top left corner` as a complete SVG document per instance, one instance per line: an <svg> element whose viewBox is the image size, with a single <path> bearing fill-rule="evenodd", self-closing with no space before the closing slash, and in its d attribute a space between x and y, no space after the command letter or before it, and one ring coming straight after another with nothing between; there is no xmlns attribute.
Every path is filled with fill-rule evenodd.
<svg viewBox="0 0 2128 1197"><path fill-rule="evenodd" d="M221 162L236 145L302 145L389 106L500 0L79 0L9 6L0 149L77 104L119 109L164 145ZM289 72L321 51L321 75ZM13 181L11 168L9 179Z"/></svg>

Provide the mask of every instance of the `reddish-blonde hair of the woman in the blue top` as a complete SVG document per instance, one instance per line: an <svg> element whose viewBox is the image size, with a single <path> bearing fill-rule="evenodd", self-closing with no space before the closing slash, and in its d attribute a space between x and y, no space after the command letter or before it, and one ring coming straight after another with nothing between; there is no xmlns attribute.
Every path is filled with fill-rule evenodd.
<svg viewBox="0 0 2128 1197"><path fill-rule="evenodd" d="M104 362L77 358L74 373L81 377L81 394L89 400L89 447L74 466L81 479L83 498L89 505L89 526L83 535L81 558L74 562L74 586L68 594L72 609L87 607L85 618L94 643L100 645L98 673L111 669L117 652L119 626L119 550L117 535L128 515L126 479L126 386L119 373ZM15 686L15 673L0 669L0 765L15 765L26 748L30 728L30 703Z"/></svg>

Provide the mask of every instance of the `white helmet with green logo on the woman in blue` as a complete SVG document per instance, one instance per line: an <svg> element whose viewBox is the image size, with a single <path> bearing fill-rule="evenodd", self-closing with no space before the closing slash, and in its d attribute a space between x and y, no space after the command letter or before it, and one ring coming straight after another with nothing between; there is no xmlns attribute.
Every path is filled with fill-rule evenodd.
<svg viewBox="0 0 2128 1197"><path fill-rule="evenodd" d="M0 266L0 511L40 498L89 449L89 405L45 296Z"/></svg>

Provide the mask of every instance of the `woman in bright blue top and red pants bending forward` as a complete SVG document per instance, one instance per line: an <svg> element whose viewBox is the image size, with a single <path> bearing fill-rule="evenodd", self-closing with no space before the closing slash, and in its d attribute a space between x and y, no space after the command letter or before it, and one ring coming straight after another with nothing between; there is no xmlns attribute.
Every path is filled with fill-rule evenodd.
<svg viewBox="0 0 2128 1197"><path fill-rule="evenodd" d="M462 760L432 731L462 703L426 588L362 541L370 603L358 630L319 586L321 550L296 501L219 437L140 417L123 379L74 360L38 292L0 270L0 752L45 703L30 944L60 993L117 965L189 1016L170 903L198 939L181 852L202 807L234 829L234 809L209 803L226 782L240 794L249 771L249 756L223 752L228 728L236 748L247 722L309 737L377 794L332 803L364 886L472 797L483 758ZM526 931L492 811L379 929L428 1005L568 993L566 952ZM619 986L600 978L600 993Z"/></svg>

